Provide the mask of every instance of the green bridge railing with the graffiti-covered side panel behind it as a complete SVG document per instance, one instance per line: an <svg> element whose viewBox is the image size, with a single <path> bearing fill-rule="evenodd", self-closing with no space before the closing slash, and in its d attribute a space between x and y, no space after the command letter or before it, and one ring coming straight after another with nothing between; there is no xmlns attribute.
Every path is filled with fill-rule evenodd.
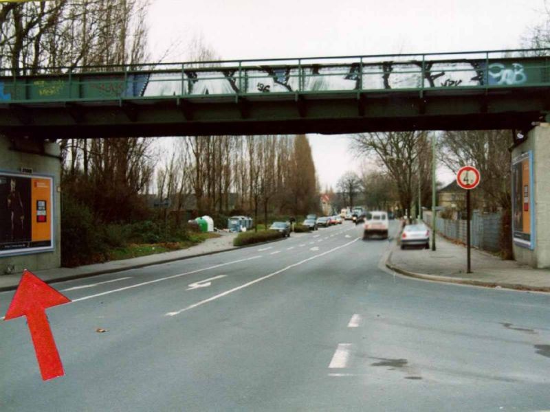
<svg viewBox="0 0 550 412"><path fill-rule="evenodd" d="M549 87L550 49L4 69L0 103Z"/></svg>

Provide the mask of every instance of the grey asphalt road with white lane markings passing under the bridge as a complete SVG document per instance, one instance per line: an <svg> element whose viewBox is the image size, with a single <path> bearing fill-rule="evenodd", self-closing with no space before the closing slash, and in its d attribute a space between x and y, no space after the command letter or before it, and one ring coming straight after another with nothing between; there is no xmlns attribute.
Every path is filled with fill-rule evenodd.
<svg viewBox="0 0 550 412"><path fill-rule="evenodd" d="M347 222L53 284L65 376L1 322L0 411L550 409L550 296L400 277L388 246Z"/></svg>

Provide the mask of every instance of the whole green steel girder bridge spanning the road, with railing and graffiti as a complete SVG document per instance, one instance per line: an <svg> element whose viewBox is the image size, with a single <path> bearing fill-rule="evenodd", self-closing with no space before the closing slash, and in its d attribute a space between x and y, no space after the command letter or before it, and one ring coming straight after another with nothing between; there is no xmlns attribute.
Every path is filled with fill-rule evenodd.
<svg viewBox="0 0 550 412"><path fill-rule="evenodd" d="M527 129L550 49L0 69L0 133L32 139Z"/></svg>

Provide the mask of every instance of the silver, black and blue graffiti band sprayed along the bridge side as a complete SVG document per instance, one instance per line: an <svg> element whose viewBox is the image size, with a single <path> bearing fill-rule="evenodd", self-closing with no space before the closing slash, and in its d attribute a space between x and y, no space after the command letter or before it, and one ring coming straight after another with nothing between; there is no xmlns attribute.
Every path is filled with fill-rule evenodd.
<svg viewBox="0 0 550 412"><path fill-rule="evenodd" d="M533 70L529 71L533 73ZM439 62L380 62L349 65L256 66L240 69L186 69L99 75L68 82L34 80L30 84L0 81L0 100L17 95L31 99L131 98L168 95L229 95L235 93L288 93L296 91L353 91L518 85L528 81L519 62L454 60ZM31 87L30 92L25 87ZM15 99L14 99L15 100Z"/></svg>

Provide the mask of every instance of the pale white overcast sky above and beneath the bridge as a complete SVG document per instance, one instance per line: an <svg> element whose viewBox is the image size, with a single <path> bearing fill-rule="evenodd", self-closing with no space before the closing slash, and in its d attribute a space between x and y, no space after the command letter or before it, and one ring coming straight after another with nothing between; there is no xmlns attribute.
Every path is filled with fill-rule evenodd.
<svg viewBox="0 0 550 412"><path fill-rule="evenodd" d="M460 52L520 47L542 0L153 0L151 49L183 61L188 41L223 59ZM360 159L349 138L310 135L320 183L336 186ZM440 180L452 176L440 170Z"/></svg>

